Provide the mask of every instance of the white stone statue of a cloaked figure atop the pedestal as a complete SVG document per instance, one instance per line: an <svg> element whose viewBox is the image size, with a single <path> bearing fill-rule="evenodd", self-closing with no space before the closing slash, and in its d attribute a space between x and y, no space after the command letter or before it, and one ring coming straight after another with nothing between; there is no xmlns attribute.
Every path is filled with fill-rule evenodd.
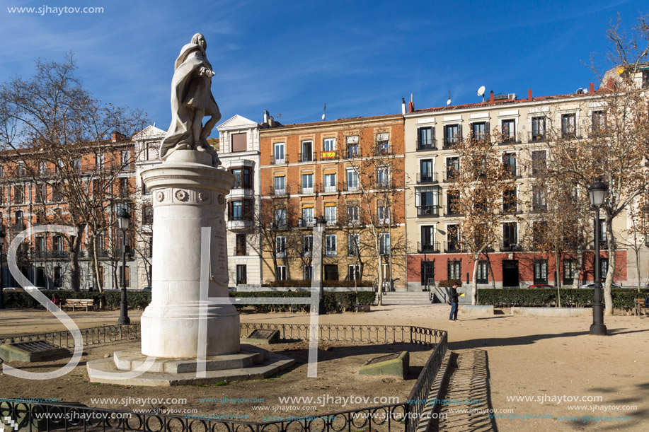
<svg viewBox="0 0 649 432"><path fill-rule="evenodd" d="M160 148L160 160L173 151L188 149L212 155L212 165L220 165L217 151L207 137L221 119L219 105L212 95L212 65L205 54L205 36L196 33L192 42L180 49L171 81L171 124ZM205 116L210 118L202 124Z"/></svg>

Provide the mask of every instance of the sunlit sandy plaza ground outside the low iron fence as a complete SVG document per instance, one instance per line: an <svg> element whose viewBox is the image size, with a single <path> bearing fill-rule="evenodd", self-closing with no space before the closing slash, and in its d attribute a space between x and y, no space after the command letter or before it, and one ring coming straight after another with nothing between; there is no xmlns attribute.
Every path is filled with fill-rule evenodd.
<svg viewBox="0 0 649 432"><path fill-rule="evenodd" d="M449 322L448 311L445 305L394 305L373 308L369 313L324 315L319 321L321 324L417 325L447 329L449 349L454 351L454 356L449 385L443 396L445 399L480 399L480 402L453 404L442 409L447 419L437 423L440 430L646 430L649 424L648 317L605 317L610 336L595 337L588 334L590 317L522 317L500 311L501 315L493 317L460 315L460 321ZM139 319L138 311L130 315L134 320ZM101 322L113 324L117 316L117 311L71 314L79 327ZM43 311L5 310L0 313L0 335L61 329L50 317ZM309 315L244 313L241 321L307 324ZM350 355L354 354L350 349ZM304 376L296 383L301 389L299 396L336 394L335 385L328 383L324 386L328 388L323 388L309 380ZM0 389L5 389L0 390L0 397L21 396L16 394L18 390L14 385L9 386L13 387L12 394L6 394L9 381L13 378L0 375ZM280 379L272 381L280 383ZM93 395L93 390L95 387L88 385L88 395ZM220 397L224 392L219 387L206 388L205 397ZM137 393L142 397L147 395L147 390L140 387ZM150 393L155 395L156 390ZM374 394L367 387L359 388L355 394L366 393ZM176 389L173 394L180 393ZM516 400L517 397L528 400ZM570 402L573 397L585 399ZM582 408L570 409L574 406ZM222 409L214 407L210 411L225 412L226 409L222 406ZM493 409L497 411L495 415L507 417L488 419L486 414L458 412L462 409ZM561 416L574 416L575 419L566 421L559 419ZM582 416L590 416L590 419L585 422L576 419ZM631 417L631 421L614 420L622 416Z"/></svg>

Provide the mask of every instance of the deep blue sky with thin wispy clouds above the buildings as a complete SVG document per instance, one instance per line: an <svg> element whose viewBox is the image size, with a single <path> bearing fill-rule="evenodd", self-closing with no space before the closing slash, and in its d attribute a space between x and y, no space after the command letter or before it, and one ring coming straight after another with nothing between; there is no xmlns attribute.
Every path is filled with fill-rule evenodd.
<svg viewBox="0 0 649 432"><path fill-rule="evenodd" d="M223 120L280 122L478 102L487 93L573 93L595 81L583 62L608 49L646 1L115 1L2 0L0 81L33 74L37 58L74 52L96 97L139 107L166 129L173 62L201 32ZM191 5L191 6L190 6ZM8 13L13 6L95 6L98 14ZM601 59L601 57L600 57ZM603 60L603 59L602 59ZM281 114L281 116L280 116ZM280 117L278 117L280 116Z"/></svg>

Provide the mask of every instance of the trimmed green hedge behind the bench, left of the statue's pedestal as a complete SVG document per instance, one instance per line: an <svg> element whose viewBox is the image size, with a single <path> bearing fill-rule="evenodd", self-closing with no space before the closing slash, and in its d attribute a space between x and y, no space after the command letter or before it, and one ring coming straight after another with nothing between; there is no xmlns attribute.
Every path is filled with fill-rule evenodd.
<svg viewBox="0 0 649 432"><path fill-rule="evenodd" d="M120 307L122 293L120 291L108 291L99 293L97 291L41 291L50 300L56 294L62 300L67 298L91 298L95 305L100 303L108 309ZM151 291L127 291L126 301L129 309L144 309L151 303ZM36 308L40 305L35 298L25 291L4 291L4 305L6 308Z"/></svg>

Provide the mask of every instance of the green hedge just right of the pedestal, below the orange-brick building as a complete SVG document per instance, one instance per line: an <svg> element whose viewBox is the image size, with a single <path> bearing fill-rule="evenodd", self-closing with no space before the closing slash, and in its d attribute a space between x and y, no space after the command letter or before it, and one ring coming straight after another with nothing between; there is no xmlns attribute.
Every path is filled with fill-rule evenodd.
<svg viewBox="0 0 649 432"><path fill-rule="evenodd" d="M250 297L311 297L308 291L300 291L298 293L292 291L255 291L255 292L239 292L233 293L235 297L250 298ZM376 293L374 291L359 291L358 304L371 305L374 303ZM324 306L326 312L337 312L338 310L352 310L356 304L355 292L344 293L325 293ZM255 313L266 312L308 312L309 305L237 305L237 309L253 308Z"/></svg>

